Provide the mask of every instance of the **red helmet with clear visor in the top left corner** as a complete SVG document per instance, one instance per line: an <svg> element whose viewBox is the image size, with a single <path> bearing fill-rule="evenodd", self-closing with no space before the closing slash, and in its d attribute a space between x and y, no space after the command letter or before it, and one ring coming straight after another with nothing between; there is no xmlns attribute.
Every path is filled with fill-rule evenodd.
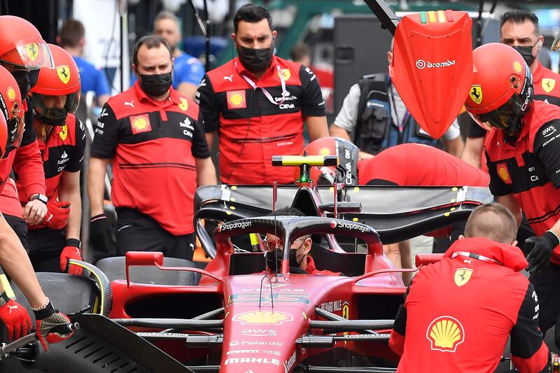
<svg viewBox="0 0 560 373"><path fill-rule="evenodd" d="M0 16L0 64L18 81L23 97L37 81L38 69L51 66L47 43L36 27L20 17Z"/></svg>

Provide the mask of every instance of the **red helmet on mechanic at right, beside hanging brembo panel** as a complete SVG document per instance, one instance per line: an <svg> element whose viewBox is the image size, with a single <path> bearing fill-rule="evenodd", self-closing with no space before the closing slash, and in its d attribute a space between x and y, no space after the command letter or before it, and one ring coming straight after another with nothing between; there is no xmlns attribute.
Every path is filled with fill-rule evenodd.
<svg viewBox="0 0 560 373"><path fill-rule="evenodd" d="M465 102L468 113L485 129L518 132L533 104L531 69L517 50L502 43L476 48L472 63L476 72Z"/></svg>

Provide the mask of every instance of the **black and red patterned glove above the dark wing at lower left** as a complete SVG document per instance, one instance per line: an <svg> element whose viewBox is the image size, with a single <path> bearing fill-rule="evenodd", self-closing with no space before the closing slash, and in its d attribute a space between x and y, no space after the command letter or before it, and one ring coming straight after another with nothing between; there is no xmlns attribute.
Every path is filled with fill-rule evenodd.
<svg viewBox="0 0 560 373"><path fill-rule="evenodd" d="M71 321L65 314L61 314L52 303L48 302L47 307L40 311L33 311L35 314L35 326L37 339L43 345L43 349L48 351L48 344L58 343L72 337Z"/></svg>

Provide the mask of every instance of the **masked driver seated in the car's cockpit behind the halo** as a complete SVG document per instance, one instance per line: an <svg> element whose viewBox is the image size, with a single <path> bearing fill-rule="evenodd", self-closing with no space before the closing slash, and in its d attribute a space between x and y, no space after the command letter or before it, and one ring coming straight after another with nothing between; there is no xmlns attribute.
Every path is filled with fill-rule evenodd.
<svg viewBox="0 0 560 373"><path fill-rule="evenodd" d="M284 207L269 213L269 216L305 216L302 211L293 207ZM283 258L283 241L274 234L267 234L267 265L272 272L281 269ZM320 271L315 267L315 262L309 252L311 251L311 234L299 237L292 242L290 246L290 270L299 268L308 274L324 274L339 276L340 273L330 272L327 270Z"/></svg>

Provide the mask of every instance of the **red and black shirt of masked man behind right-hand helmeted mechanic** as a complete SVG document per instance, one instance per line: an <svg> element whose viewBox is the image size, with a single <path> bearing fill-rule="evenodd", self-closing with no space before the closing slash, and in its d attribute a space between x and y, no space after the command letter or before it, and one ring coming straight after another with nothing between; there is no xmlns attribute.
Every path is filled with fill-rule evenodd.
<svg viewBox="0 0 560 373"><path fill-rule="evenodd" d="M547 69L538 61L537 68L533 72L533 88L535 89L536 100L560 106L560 74ZM486 129L480 127L474 121L470 122L468 137L476 139L485 135Z"/></svg>

